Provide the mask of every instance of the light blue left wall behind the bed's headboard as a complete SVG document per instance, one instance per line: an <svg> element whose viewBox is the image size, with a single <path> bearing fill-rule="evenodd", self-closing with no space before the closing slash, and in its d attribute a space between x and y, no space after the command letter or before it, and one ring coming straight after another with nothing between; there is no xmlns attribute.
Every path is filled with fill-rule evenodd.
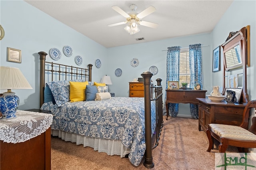
<svg viewBox="0 0 256 170"><path fill-rule="evenodd" d="M102 64L96 69L94 63L96 59L106 63L105 47L24 1L1 0L0 3L1 25L5 31L5 37L0 41L0 65L20 68L33 88L12 90L20 98L19 109L39 108L39 51L49 54L51 48L58 48L62 52L63 47L69 45L73 49L72 57L66 57L62 52L57 62L76 66L74 57L80 55L83 58L81 67L93 64L93 81L100 81L108 67ZM22 63L7 62L7 47L22 51ZM48 55L46 61L53 60Z"/></svg>

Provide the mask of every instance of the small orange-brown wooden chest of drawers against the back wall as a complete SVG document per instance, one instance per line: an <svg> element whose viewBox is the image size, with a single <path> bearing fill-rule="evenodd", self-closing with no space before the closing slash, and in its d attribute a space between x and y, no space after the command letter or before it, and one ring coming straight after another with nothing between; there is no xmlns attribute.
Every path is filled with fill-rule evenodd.
<svg viewBox="0 0 256 170"><path fill-rule="evenodd" d="M129 82L129 97L144 97L143 82Z"/></svg>

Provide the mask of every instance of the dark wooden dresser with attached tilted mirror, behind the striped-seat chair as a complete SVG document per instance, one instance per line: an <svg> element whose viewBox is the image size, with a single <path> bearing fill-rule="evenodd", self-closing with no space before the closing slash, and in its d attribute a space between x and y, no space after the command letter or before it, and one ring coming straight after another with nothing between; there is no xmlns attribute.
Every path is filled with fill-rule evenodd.
<svg viewBox="0 0 256 170"><path fill-rule="evenodd" d="M229 36L223 49L223 92L227 87L227 73L242 74L242 94L239 103L230 104L226 101L212 102L208 98L197 98L199 101L198 110L198 130L204 132L208 129L208 124L219 123L239 126L242 122L244 107L249 101L247 94L247 66L250 66L250 25L243 27L234 35ZM235 51L237 55L230 55ZM241 69L242 68L242 69ZM240 73L242 70L242 73Z"/></svg>

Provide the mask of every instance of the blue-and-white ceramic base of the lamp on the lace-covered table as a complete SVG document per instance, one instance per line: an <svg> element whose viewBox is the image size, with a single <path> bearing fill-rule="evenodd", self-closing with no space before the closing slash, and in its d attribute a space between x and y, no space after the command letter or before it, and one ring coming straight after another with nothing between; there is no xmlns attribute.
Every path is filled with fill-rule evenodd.
<svg viewBox="0 0 256 170"><path fill-rule="evenodd" d="M16 118L16 111L18 109L20 99L15 95L14 92L12 94L4 93L3 96L0 97L0 111L2 113L1 119L14 119Z"/></svg>

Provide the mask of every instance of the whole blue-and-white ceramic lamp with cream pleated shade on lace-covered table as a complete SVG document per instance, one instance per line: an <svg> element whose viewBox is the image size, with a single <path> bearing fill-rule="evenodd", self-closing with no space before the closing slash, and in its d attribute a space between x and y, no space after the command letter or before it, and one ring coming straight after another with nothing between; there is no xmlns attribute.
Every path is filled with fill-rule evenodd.
<svg viewBox="0 0 256 170"><path fill-rule="evenodd" d="M1 119L16 118L20 99L11 89L32 89L19 68L0 66L0 89L6 89L0 97Z"/></svg>

